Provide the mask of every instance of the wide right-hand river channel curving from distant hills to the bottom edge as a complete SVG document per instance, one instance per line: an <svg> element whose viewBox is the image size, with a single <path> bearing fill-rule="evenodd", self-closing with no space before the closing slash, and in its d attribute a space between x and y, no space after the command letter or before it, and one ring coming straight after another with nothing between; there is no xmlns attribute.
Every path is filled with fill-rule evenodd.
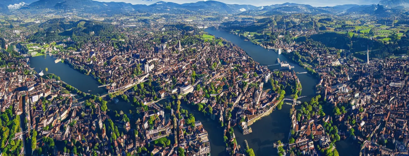
<svg viewBox="0 0 409 156"><path fill-rule="evenodd" d="M287 59L283 55L279 55L274 50L267 50L261 46L255 45L249 41L244 41L240 36L230 34L226 31L219 31L213 28L205 29L205 32L220 38L224 38L236 46L243 49L254 61L260 63L261 65L273 65L276 64L277 58L280 61L287 61L291 66L294 66L292 70L295 72L307 72L306 69L294 63L292 60ZM276 70L279 66L270 66L269 69ZM298 74L297 75L301 86L303 88L301 96L313 96L315 95L315 86L318 80L309 74ZM304 98L301 101L309 101L308 98ZM244 140L250 148L254 150L257 156L276 156L277 150L273 148L273 143L281 140L287 142L288 135L291 128L290 120L290 105L283 105L281 110L275 110L270 115L258 120L252 124L253 132L247 135L243 135L238 127L234 128L236 134L237 143L243 147ZM213 147L211 147L213 150Z"/></svg>

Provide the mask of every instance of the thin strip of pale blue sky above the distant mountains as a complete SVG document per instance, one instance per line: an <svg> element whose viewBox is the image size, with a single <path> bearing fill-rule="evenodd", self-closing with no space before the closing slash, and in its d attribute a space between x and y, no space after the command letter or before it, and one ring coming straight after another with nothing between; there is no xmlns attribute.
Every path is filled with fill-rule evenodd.
<svg viewBox="0 0 409 156"><path fill-rule="evenodd" d="M97 0L100 2L127 2L132 4L145 4L150 5L161 0ZM175 2L175 3L190 3L198 2L201 0L163 0L166 2ZM335 5L345 5L345 4L357 4L357 5L369 5L369 4L378 4L380 0L217 0L227 4L246 4L246 5L255 5L255 6L265 6L265 5L274 5L274 4L283 4L285 2L298 3L298 4L307 4L314 7L326 7L326 6L335 6Z"/></svg>

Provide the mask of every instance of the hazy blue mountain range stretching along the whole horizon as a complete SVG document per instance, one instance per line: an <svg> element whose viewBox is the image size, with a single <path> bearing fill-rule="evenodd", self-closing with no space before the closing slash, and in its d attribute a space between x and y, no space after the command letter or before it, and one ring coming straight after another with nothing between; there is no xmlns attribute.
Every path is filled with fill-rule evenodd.
<svg viewBox="0 0 409 156"><path fill-rule="evenodd" d="M151 5L132 5L125 2L97 2L94 0L21 0L29 5L22 6L30 12L41 9L54 9L56 11L77 11L83 13L106 13L118 14L129 12L144 13L172 13L172 14L243 14L263 15L272 14L343 14L343 13L368 13L373 14L379 5L337 5L334 7L313 7L296 3L284 3L270 6L256 7L253 5L229 5L223 2L207 0L195 3L178 4L173 2L156 2ZM35 2L33 2L35 1ZM7 5L19 2L19 0L0 0L0 12L7 12ZM409 0L381 0L380 5L384 8L409 8ZM4 8L4 9L3 9Z"/></svg>

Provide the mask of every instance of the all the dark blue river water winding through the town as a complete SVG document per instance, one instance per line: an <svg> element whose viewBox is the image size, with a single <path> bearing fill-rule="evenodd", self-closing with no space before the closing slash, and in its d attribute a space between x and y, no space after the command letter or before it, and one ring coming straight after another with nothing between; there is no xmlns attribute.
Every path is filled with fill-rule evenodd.
<svg viewBox="0 0 409 156"><path fill-rule="evenodd" d="M255 61L262 65L272 65L276 64L277 58L281 61L287 61L291 66L294 66L293 69L295 72L306 72L304 68L299 66L297 63L290 61L285 58L283 55L279 55L273 50L266 50L263 47L254 45L249 41L244 41L243 38L230 34L225 31L218 31L213 28L205 29L205 32L212 34L216 37L225 38L227 41L231 41L238 47L242 48L252 57ZM106 93L106 90L103 88L98 88L100 85L94 78L91 76L83 75L80 72L72 69L65 63L54 63L56 58L54 57L31 57L30 58L30 67L35 68L37 72L48 68L48 72L53 73L61 77L62 81L65 81L67 84L78 88L79 90L85 93L92 94L103 94ZM270 66L270 70L279 69L279 66ZM303 88L301 96L312 96L315 95L315 86L318 82L317 79L313 78L308 74L299 74L297 75L301 81L301 86ZM91 90L88 92L88 90ZM309 101L309 98L300 99L301 101ZM124 105L126 102L119 102L118 104L109 104L108 108L112 110L122 110L124 113L128 112L130 104ZM225 155L225 143L223 142L223 128L220 127L218 121L211 120L209 116L203 115L201 112L196 111L196 108L193 106L182 104L182 108L192 113L196 120L200 120L204 125L205 129L209 132L209 140L211 143L211 155L213 156L224 156ZM244 140L247 140L250 148L253 148L257 156L276 156L277 151L274 149L272 144L278 140L287 142L288 134L290 133L290 105L283 105L281 110L273 111L270 115L258 120L252 124L253 132L247 135L243 135L238 127L234 128L236 140L240 146L243 147ZM342 142L343 146L338 146L338 151L341 154L342 151L347 151L348 145L345 142ZM343 147L339 149L339 147Z"/></svg>

